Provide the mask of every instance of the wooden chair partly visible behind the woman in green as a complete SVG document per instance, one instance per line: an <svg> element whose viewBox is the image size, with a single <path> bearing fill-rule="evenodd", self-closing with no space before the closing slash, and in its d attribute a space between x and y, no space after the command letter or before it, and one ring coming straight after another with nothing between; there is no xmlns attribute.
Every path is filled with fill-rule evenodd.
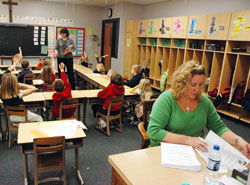
<svg viewBox="0 0 250 185"><path fill-rule="evenodd" d="M151 100L147 100L143 102L143 115L142 115L143 121L138 124L138 130L142 137L142 143L141 143L140 149L144 149L149 146L149 138L148 138L148 134L146 131L147 131L148 121L149 121L148 116L152 110L155 100L156 99L151 99Z"/></svg>

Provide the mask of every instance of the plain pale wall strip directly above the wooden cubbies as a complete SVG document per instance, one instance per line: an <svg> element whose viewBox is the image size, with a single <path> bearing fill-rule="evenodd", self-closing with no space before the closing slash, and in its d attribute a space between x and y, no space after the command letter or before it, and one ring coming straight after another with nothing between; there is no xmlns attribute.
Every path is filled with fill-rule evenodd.
<svg viewBox="0 0 250 185"><path fill-rule="evenodd" d="M250 0L170 0L144 6L143 19L235 12L250 9Z"/></svg>

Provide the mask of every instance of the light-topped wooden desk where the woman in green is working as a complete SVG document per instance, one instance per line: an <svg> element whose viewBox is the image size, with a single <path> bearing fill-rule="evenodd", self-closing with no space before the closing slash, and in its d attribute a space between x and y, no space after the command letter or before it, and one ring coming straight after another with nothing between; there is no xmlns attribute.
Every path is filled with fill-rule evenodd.
<svg viewBox="0 0 250 185"><path fill-rule="evenodd" d="M161 166L161 148L153 147L122 154L110 155L112 185L202 185L205 161L196 155L202 164L201 172L165 168Z"/></svg>

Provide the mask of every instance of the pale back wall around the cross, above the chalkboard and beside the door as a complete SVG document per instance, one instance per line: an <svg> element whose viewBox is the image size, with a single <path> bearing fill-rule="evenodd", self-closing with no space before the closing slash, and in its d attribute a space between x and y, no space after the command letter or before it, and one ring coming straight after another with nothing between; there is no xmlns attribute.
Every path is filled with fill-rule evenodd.
<svg viewBox="0 0 250 185"><path fill-rule="evenodd" d="M91 27L92 34L98 35L99 41L94 42L91 40L91 36L85 35L89 40L85 44L86 53L89 56L90 61L94 61L94 53L99 53L101 46L98 43L101 42L101 19L103 15L103 9L93 6L82 6L65 3L54 2L41 2L41 1L19 1L18 6L13 6L13 15L17 16L34 16L34 17L52 17L52 18L66 18L72 19L74 27ZM1 14L9 14L8 6L3 6L1 2L0 6ZM30 63L37 63L35 58L28 58Z"/></svg>

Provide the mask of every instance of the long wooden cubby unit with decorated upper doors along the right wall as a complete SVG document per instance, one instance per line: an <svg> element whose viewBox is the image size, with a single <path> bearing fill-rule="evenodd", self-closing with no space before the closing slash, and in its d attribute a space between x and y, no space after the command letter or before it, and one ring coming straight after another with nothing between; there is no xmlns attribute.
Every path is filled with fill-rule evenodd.
<svg viewBox="0 0 250 185"><path fill-rule="evenodd" d="M241 25L238 22L241 27L236 29L235 24L242 17L245 19ZM129 22L124 74L130 74L133 64L148 66L152 86L159 90L162 73L168 71L166 89L169 89L174 71L183 62L195 60L206 67L210 77L204 93L217 88L219 95L231 86L231 100L234 89L241 81L246 81L245 93L250 89L249 25L250 11ZM234 32L237 33L232 36ZM131 47L127 47L130 43ZM250 113L243 110L240 104L230 101L221 103L217 111L250 123Z"/></svg>

